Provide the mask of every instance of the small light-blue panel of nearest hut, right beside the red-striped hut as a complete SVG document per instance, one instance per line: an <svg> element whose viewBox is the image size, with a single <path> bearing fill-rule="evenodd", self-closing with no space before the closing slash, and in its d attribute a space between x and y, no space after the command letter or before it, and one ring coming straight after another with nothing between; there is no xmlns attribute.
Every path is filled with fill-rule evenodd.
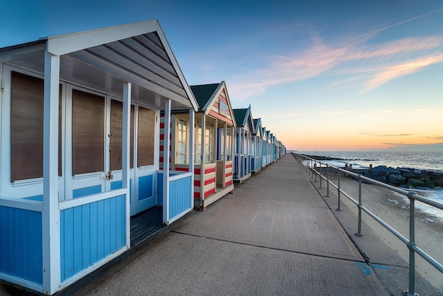
<svg viewBox="0 0 443 296"><path fill-rule="evenodd" d="M192 178L180 178L169 183L169 219L172 220L192 207Z"/></svg>

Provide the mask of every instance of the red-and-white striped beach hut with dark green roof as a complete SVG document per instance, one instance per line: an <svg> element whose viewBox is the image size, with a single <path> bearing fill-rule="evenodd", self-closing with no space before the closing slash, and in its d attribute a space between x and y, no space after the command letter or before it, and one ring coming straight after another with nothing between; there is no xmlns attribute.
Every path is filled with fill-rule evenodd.
<svg viewBox="0 0 443 296"><path fill-rule="evenodd" d="M161 161L163 164L169 162L173 171L188 171L194 159L194 205L205 210L208 205L234 190L232 174L236 121L224 81L190 88L199 105L195 123L188 121L188 113L180 110L173 112L169 137L171 158L169 161ZM192 130L195 133L193 141L188 137ZM184 149L187 142L195 144L193 158ZM167 147L166 144L163 147Z"/></svg>

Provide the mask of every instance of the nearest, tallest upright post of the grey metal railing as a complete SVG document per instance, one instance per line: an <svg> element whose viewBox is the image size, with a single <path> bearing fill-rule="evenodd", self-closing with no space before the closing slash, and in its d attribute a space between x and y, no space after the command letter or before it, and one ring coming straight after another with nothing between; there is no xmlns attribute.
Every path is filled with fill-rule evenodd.
<svg viewBox="0 0 443 296"><path fill-rule="evenodd" d="M405 290L403 294L415 296L415 251L413 246L415 246L415 199L413 195L415 192L410 191L408 193L409 198L409 289Z"/></svg>

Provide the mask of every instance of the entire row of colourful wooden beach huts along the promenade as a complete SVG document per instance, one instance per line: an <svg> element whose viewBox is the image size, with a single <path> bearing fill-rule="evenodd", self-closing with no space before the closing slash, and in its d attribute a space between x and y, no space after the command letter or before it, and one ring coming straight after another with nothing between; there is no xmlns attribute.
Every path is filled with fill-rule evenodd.
<svg viewBox="0 0 443 296"><path fill-rule="evenodd" d="M0 280L52 295L130 249L130 218L170 224L286 153L188 86L157 21L0 49ZM165 173L168 171L168 173Z"/></svg>

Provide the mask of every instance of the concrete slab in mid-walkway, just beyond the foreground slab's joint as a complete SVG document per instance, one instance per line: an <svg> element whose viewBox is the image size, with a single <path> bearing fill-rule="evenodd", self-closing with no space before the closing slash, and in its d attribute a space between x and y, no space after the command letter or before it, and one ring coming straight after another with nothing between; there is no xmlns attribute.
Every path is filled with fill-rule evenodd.
<svg viewBox="0 0 443 296"><path fill-rule="evenodd" d="M318 195L318 194L317 194ZM241 244L364 261L328 207L224 198L174 231Z"/></svg>

